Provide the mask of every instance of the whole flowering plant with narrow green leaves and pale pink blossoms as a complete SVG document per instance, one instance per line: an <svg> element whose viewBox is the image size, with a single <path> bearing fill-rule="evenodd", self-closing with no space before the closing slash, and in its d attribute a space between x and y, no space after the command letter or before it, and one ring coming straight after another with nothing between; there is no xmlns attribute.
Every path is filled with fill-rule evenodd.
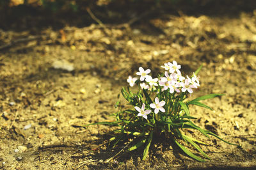
<svg viewBox="0 0 256 170"><path fill-rule="evenodd" d="M211 107L200 101L220 97L222 94L210 94L193 100L187 100L193 91L200 86L197 75L202 66L191 77L188 75L186 77L182 76L180 72L181 66L176 61L173 61L173 63L164 63L161 67L164 68L164 73L160 73L156 78L149 75L151 72L150 69L145 70L142 67L136 73L140 77L128 77L127 82L129 86L138 86L138 91L132 91L129 86L121 90L123 97L132 105L131 109L124 111L120 109L114 113L113 116L116 118L114 122L99 122L89 125L104 124L117 126L118 128L113 130L115 136L109 139L110 146L115 147L118 143L129 141L128 144L131 144L131 146L127 149L128 151L143 147L142 160L147 158L152 139L164 135L165 137L169 137L173 143L177 144L189 157L204 162L204 158L196 156L179 141L183 140L191 144L208 159L210 158L199 146L200 144L207 144L185 135L183 132L184 129L198 130L208 138L209 135L213 135L228 143L209 130L204 130L196 126L191 121L196 118L191 116L189 112L189 105L211 109ZM120 103L117 102L115 107L118 107L118 104ZM127 148L128 144L125 148Z"/></svg>

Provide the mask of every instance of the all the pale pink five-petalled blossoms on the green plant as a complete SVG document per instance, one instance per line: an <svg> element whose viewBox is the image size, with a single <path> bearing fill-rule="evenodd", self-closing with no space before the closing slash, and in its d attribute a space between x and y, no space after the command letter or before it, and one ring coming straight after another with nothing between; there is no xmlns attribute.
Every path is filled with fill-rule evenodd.
<svg viewBox="0 0 256 170"><path fill-rule="evenodd" d="M161 91L168 90L169 93L193 93L193 88L198 88L200 86L198 77L196 77L195 73L193 73L193 76L190 78L188 75L185 77L182 76L180 72L181 66L177 64L176 61L173 61L173 63L164 63L164 66L161 66L165 69L165 72L163 74L163 77L159 76L159 78L153 78L151 75L148 75L148 73L151 72L150 69L144 70L144 68L140 67L139 71L136 75L140 75L140 88L141 89L148 89L149 91L156 91L157 86L161 89ZM127 79L127 82L129 82L129 85L132 87L138 81L138 77L131 77ZM145 82L143 82L145 81ZM165 112L163 106L165 102L161 101L159 102L159 98L155 98L155 103L150 104L150 107L154 109L154 112L157 114L159 111ZM147 111L144 111L145 104L142 105L141 109L136 106L135 109L139 112L137 116L143 116L143 118L147 119L147 114L151 112L150 109Z"/></svg>

